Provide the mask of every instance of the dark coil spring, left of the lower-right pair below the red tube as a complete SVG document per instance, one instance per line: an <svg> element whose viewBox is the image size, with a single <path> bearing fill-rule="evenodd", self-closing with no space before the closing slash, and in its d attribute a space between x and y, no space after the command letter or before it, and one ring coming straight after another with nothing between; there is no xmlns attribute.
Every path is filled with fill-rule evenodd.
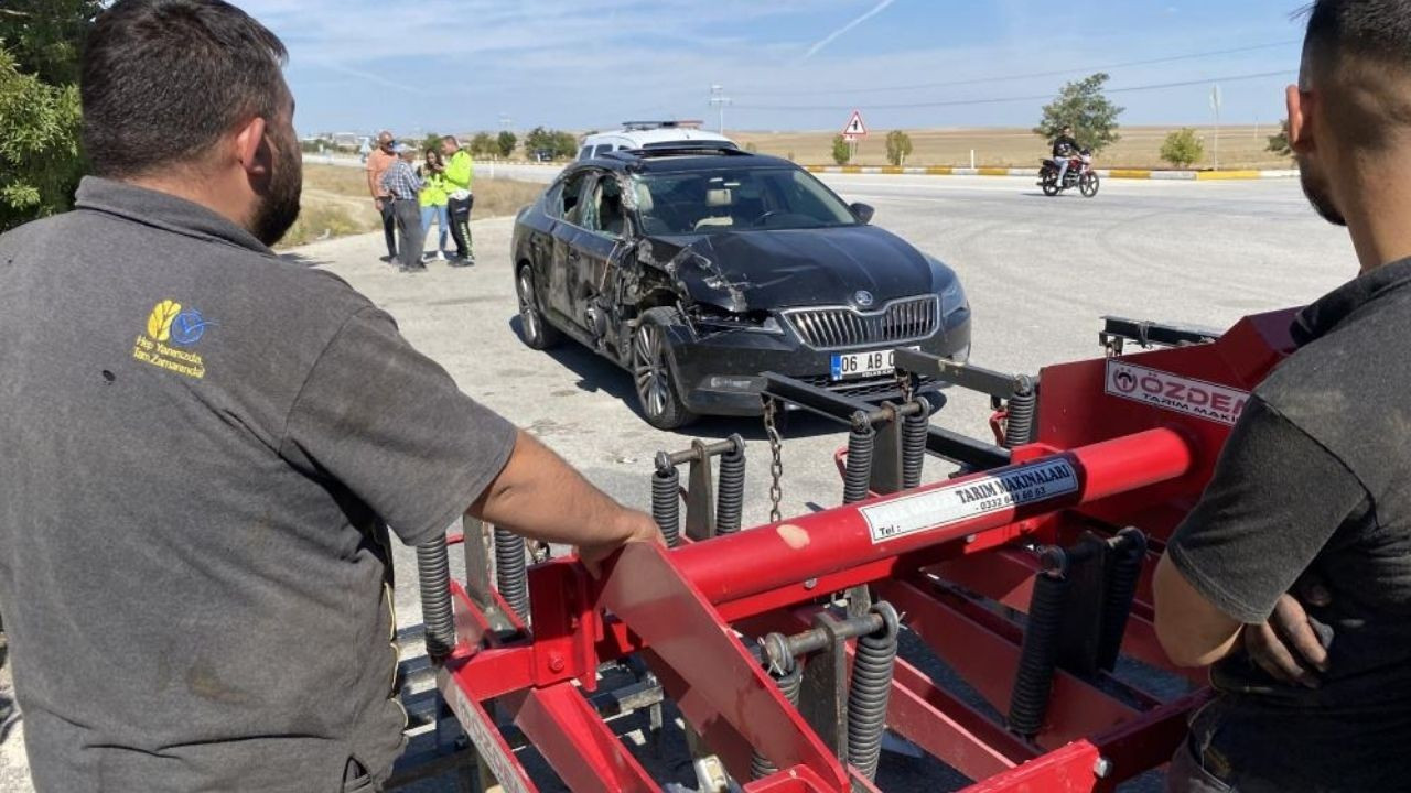
<svg viewBox="0 0 1411 793"><path fill-rule="evenodd" d="M1043 571L1034 577L1029 626L1024 628L1015 693L1009 701L1009 728L1024 738L1037 735L1048 714L1048 693L1053 690L1068 586L1068 577L1062 571Z"/></svg>

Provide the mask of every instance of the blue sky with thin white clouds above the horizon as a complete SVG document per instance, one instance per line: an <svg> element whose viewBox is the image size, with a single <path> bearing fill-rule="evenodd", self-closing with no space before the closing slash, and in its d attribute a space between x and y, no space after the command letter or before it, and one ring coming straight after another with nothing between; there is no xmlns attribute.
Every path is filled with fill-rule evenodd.
<svg viewBox="0 0 1411 793"><path fill-rule="evenodd" d="M1126 124L1283 117L1304 0L248 0L289 47L301 133L626 119L727 130L1031 126L1096 66ZM1229 52L1245 49L1243 52ZM1223 52L1160 63L1134 61ZM1062 72L1062 73L1051 73ZM1235 80L1247 75L1276 75ZM982 80L982 82L976 82ZM962 83L962 85L957 85ZM1022 99L1016 99L1022 97Z"/></svg>

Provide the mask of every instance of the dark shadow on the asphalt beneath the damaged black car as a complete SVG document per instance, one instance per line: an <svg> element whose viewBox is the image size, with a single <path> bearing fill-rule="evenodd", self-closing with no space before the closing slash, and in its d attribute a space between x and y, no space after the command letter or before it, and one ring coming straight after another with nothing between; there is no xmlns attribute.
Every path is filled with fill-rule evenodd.
<svg viewBox="0 0 1411 793"><path fill-rule="evenodd" d="M509 319L509 329L515 336L522 337L519 333L519 315ZM579 375L579 381L574 385L593 394L602 392L614 399L619 399L641 419L642 412L638 408L636 391L632 388L632 375L628 371L569 339L552 350L545 350L545 354ZM646 423L646 419L641 420L643 425ZM779 433L785 440L845 432L847 429L840 423L800 411L786 412L785 418L779 422ZM704 416L698 422L676 430L676 435L686 439L725 439L735 433L739 433L745 440L769 439L765 433L763 419L759 416Z"/></svg>

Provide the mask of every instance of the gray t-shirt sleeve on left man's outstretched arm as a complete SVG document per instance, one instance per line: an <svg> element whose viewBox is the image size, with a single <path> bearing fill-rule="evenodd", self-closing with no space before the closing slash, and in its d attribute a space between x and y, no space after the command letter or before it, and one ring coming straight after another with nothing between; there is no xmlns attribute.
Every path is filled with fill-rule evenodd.
<svg viewBox="0 0 1411 793"><path fill-rule="evenodd" d="M309 371L281 454L347 487L408 545L444 531L504 468L516 429L456 387L387 313L354 313Z"/></svg>

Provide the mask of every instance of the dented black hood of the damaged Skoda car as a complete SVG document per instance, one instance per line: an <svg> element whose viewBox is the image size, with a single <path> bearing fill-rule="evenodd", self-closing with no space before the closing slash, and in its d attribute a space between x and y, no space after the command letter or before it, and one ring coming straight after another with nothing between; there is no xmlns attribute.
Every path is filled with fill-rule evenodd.
<svg viewBox="0 0 1411 793"><path fill-rule="evenodd" d="M859 291L880 306L955 278L875 226L652 237L648 247L691 299L731 312L848 305Z"/></svg>

